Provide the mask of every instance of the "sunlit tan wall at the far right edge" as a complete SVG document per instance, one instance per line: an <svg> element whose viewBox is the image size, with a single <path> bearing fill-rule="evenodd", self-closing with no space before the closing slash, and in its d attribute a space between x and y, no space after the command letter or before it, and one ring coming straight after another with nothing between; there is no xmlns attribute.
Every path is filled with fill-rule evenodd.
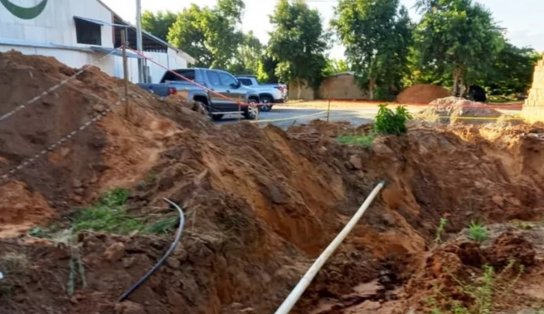
<svg viewBox="0 0 544 314"><path fill-rule="evenodd" d="M544 121L544 59L535 68L533 86L523 105L522 116L529 122Z"/></svg>

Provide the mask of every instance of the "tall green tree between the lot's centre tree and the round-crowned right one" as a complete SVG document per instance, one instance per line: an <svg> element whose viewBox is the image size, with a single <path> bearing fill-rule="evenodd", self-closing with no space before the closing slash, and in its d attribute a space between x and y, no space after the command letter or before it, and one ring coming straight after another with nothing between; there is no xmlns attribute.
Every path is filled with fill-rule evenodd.
<svg viewBox="0 0 544 314"><path fill-rule="evenodd" d="M401 88L412 25L399 0L340 0L332 25L359 85L371 99L377 90L390 93Z"/></svg>

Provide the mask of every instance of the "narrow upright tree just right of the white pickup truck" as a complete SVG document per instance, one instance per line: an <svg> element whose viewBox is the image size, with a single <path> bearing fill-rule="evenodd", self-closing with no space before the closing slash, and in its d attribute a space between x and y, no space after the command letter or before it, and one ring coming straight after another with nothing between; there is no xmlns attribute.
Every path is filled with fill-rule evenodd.
<svg viewBox="0 0 544 314"><path fill-rule="evenodd" d="M304 0L280 0L270 22L275 29L269 42L270 56L278 62L275 74L283 82L296 82L298 97L304 84L315 90L322 80L328 49L319 13Z"/></svg>

